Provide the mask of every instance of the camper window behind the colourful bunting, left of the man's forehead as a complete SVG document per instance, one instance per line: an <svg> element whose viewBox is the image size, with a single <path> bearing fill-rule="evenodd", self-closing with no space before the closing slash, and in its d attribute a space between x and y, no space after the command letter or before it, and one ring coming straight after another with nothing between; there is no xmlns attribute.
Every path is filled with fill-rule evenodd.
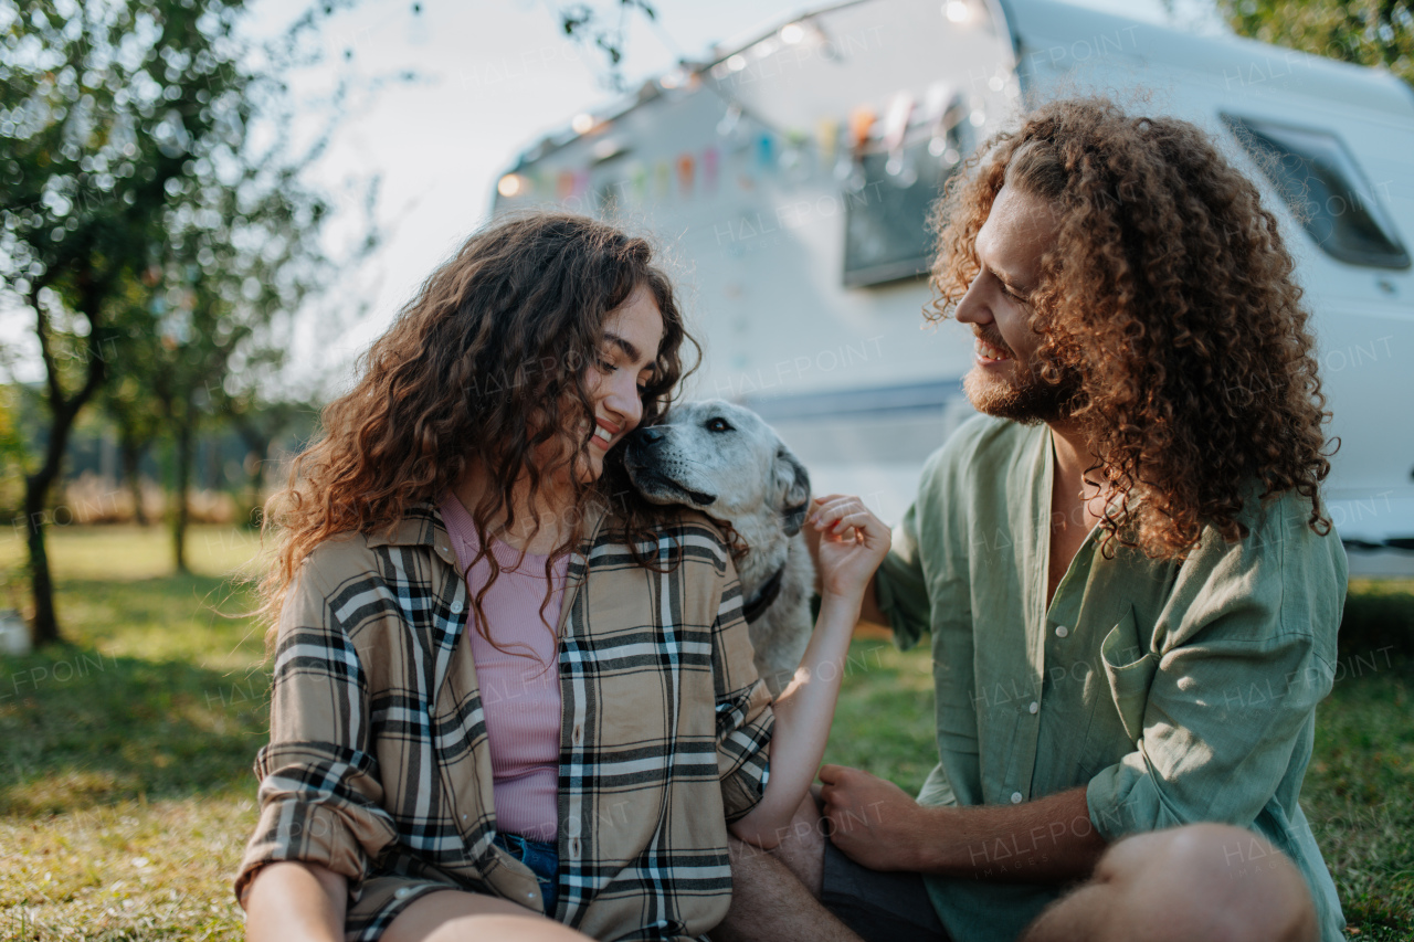
<svg viewBox="0 0 1414 942"><path fill-rule="evenodd" d="M928 273L932 233L928 211L960 151L949 134L946 156L928 139L905 144L894 158L867 153L844 184L844 286L865 287ZM936 144L933 150L937 150Z"/></svg>

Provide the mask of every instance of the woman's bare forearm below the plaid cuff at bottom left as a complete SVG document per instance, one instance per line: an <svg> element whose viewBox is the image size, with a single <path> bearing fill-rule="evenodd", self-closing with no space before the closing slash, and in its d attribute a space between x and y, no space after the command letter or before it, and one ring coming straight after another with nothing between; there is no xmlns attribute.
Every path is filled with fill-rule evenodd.
<svg viewBox="0 0 1414 942"><path fill-rule="evenodd" d="M247 942L342 942L348 878L300 860L266 864L246 887Z"/></svg>

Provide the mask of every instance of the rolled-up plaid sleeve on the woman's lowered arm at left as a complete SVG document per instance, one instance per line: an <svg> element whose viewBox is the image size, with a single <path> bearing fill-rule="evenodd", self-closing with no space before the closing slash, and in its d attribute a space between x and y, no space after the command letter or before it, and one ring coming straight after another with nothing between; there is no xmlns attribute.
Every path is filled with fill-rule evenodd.
<svg viewBox="0 0 1414 942"><path fill-rule="evenodd" d="M298 860L349 878L396 839L368 751L368 689L354 644L308 564L281 610L270 743L256 757L259 822L236 876L240 898L260 867Z"/></svg>

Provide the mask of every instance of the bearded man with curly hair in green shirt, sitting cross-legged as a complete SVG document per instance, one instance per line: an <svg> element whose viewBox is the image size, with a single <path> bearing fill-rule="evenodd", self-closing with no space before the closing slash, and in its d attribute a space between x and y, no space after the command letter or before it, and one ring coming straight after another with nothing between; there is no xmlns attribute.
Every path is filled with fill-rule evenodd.
<svg viewBox="0 0 1414 942"><path fill-rule="evenodd" d="M1198 127L1104 100L971 170L929 315L971 325L983 414L864 610L932 635L940 762L916 801L824 767L779 847L734 847L714 938L1335 942L1297 799L1346 562L1277 219Z"/></svg>

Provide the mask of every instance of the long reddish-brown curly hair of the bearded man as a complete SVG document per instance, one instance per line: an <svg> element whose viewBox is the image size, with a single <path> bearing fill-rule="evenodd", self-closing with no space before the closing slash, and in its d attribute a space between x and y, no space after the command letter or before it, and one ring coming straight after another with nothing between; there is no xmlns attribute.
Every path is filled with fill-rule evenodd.
<svg viewBox="0 0 1414 942"><path fill-rule="evenodd" d="M1044 105L983 144L939 201L929 320L977 277L977 232L1004 184L1056 211L1029 298L1032 366L1079 383L1068 419L1090 443L1087 478L1123 498L1102 521L1104 552L1182 557L1205 525L1244 537L1244 498L1290 489L1329 533L1315 341L1257 188L1188 122L1106 99Z"/></svg>

